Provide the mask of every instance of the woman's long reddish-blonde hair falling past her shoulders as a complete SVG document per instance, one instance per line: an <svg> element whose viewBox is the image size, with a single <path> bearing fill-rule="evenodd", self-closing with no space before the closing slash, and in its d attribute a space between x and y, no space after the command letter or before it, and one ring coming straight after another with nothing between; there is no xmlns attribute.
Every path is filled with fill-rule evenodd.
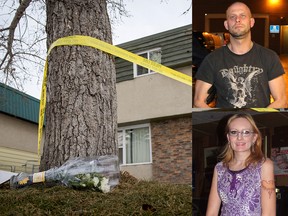
<svg viewBox="0 0 288 216"><path fill-rule="evenodd" d="M254 134L258 135L255 144L251 145L251 154L249 155L249 157L245 161L245 165L247 167L250 164L256 164L256 163L262 161L264 158L264 155L262 152L262 135L261 135L261 132L259 131L258 127L256 126L256 123L255 123L254 119L252 118L252 116L250 114L247 114L247 113L238 113L238 114L231 116L228 119L227 124L226 124L226 128L225 128L225 134L226 135L229 132L230 123L237 118L244 118L244 119L248 120L252 126L252 130L253 130ZM233 150L230 146L230 142L228 140L227 140L227 143L224 147L223 152L220 154L219 157L222 159L224 166L227 166L227 167L228 167L229 162L231 162L234 159L234 152L233 152Z"/></svg>

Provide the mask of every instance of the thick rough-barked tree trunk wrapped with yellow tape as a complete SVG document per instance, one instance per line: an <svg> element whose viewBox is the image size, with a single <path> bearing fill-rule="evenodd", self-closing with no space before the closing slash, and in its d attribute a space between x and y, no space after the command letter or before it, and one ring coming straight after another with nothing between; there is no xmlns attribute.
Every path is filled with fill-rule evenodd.
<svg viewBox="0 0 288 216"><path fill-rule="evenodd" d="M70 35L112 43L106 0L46 0L47 45ZM116 155L114 57L90 47L60 46L48 59L41 170L73 157Z"/></svg>

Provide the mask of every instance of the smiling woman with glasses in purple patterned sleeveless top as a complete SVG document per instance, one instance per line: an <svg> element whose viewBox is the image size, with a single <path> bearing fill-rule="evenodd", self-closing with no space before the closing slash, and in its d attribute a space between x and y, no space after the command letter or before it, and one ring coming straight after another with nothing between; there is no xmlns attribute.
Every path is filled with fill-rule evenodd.
<svg viewBox="0 0 288 216"><path fill-rule="evenodd" d="M276 215L273 162L262 153L261 133L249 114L226 125L227 144L214 169L206 216Z"/></svg>

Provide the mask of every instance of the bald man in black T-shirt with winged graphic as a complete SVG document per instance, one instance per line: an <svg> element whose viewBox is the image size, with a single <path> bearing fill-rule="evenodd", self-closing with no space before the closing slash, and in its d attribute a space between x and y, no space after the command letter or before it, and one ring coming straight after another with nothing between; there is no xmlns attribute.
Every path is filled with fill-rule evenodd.
<svg viewBox="0 0 288 216"><path fill-rule="evenodd" d="M287 107L283 67L274 51L252 42L254 23L244 3L228 7L224 26L230 43L203 60L196 74L194 107L209 107L206 99L212 85L217 91L216 107Z"/></svg>

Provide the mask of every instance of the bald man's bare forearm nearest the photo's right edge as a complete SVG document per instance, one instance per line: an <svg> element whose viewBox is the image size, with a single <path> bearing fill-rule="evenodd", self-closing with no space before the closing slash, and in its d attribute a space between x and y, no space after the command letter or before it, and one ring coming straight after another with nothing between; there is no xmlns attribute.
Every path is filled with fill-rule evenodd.
<svg viewBox="0 0 288 216"><path fill-rule="evenodd" d="M270 108L287 108L286 87L283 76L279 76L269 81L269 88L274 99L268 107Z"/></svg>

